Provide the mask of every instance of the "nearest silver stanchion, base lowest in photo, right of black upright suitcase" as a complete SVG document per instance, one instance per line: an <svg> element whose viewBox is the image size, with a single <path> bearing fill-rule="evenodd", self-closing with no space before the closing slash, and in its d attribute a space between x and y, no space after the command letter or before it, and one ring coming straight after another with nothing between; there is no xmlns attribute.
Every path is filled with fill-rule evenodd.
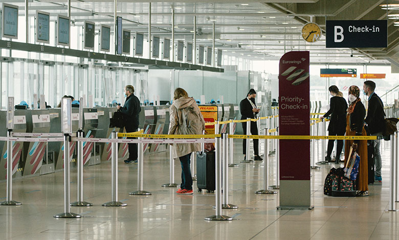
<svg viewBox="0 0 399 240"><path fill-rule="evenodd" d="M221 141L220 137L216 137L215 141L215 180L216 180L216 190L215 190L215 199L216 199L216 204L215 204L215 211L216 214L212 215L210 217L206 217L205 220L207 221L230 221L233 220L233 218L222 215L221 214Z"/></svg>

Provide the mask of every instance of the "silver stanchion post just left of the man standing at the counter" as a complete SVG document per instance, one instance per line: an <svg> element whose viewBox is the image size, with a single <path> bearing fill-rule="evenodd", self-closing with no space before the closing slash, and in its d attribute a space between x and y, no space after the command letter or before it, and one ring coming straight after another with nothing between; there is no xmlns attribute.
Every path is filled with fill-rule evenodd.
<svg viewBox="0 0 399 240"><path fill-rule="evenodd" d="M111 133L112 139L118 138L117 132ZM118 143L111 142L111 191L112 201L103 204L104 207L123 207L126 203L118 201Z"/></svg>

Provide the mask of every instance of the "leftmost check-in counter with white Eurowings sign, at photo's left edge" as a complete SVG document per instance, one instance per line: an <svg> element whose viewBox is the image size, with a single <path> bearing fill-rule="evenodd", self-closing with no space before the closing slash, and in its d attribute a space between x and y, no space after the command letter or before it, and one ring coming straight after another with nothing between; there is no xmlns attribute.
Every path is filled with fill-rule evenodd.
<svg viewBox="0 0 399 240"><path fill-rule="evenodd" d="M29 110L15 110L14 111L14 129L13 132L25 133L27 130L26 126L26 112ZM0 111L0 123L7 123L7 111ZM7 128L0 128L1 136L7 136ZM0 180L4 180L7 177L7 142L2 141L2 156L0 157ZM12 145L13 152L13 160L12 160L12 173L14 177L17 177L18 174L15 174L20 167L22 153L24 151L24 142L14 141ZM19 172L19 177L21 176L21 172Z"/></svg>

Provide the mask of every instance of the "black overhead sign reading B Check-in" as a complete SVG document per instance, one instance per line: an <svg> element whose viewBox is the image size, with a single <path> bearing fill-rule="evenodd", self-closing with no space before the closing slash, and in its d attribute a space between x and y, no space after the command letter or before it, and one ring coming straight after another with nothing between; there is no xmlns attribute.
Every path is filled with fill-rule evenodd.
<svg viewBox="0 0 399 240"><path fill-rule="evenodd" d="M326 47L387 47L387 20L326 20Z"/></svg>

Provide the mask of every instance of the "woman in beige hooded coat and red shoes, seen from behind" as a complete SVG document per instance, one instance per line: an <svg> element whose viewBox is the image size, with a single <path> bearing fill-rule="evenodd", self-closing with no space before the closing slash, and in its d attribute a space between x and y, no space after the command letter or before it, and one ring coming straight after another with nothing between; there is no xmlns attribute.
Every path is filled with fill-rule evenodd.
<svg viewBox="0 0 399 240"><path fill-rule="evenodd" d="M205 129L204 117L193 98L183 88L174 90L173 104L169 107L170 124L168 134L196 135ZM182 183L178 194L193 194L190 170L192 152L201 151L200 143L174 143L173 159L179 158L182 165Z"/></svg>

